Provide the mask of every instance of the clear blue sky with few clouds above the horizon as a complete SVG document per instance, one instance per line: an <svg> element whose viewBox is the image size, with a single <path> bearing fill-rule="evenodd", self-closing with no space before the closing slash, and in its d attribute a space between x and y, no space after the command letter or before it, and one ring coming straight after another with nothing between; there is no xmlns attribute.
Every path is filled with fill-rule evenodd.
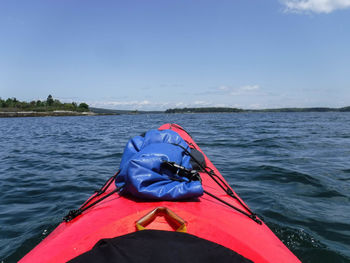
<svg viewBox="0 0 350 263"><path fill-rule="evenodd" d="M0 97L343 107L349 47L350 0L4 0Z"/></svg>

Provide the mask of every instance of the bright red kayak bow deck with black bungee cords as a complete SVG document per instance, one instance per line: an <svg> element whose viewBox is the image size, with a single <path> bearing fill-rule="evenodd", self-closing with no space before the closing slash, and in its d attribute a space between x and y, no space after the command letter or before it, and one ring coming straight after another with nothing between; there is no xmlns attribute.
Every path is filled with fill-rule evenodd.
<svg viewBox="0 0 350 263"><path fill-rule="evenodd" d="M248 260L240 262L300 262L227 185L191 136L176 124L162 125L158 130L167 129L203 154L206 167L199 173L202 196L176 202L139 200L119 195L112 178L103 193L93 195L84 204L87 209L62 222L20 262L67 262L89 252L101 239L126 236L130 241L136 233L152 232L139 231L143 229L162 230L155 233L165 235L177 231L180 237L209 241L218 249L234 251Z"/></svg>

